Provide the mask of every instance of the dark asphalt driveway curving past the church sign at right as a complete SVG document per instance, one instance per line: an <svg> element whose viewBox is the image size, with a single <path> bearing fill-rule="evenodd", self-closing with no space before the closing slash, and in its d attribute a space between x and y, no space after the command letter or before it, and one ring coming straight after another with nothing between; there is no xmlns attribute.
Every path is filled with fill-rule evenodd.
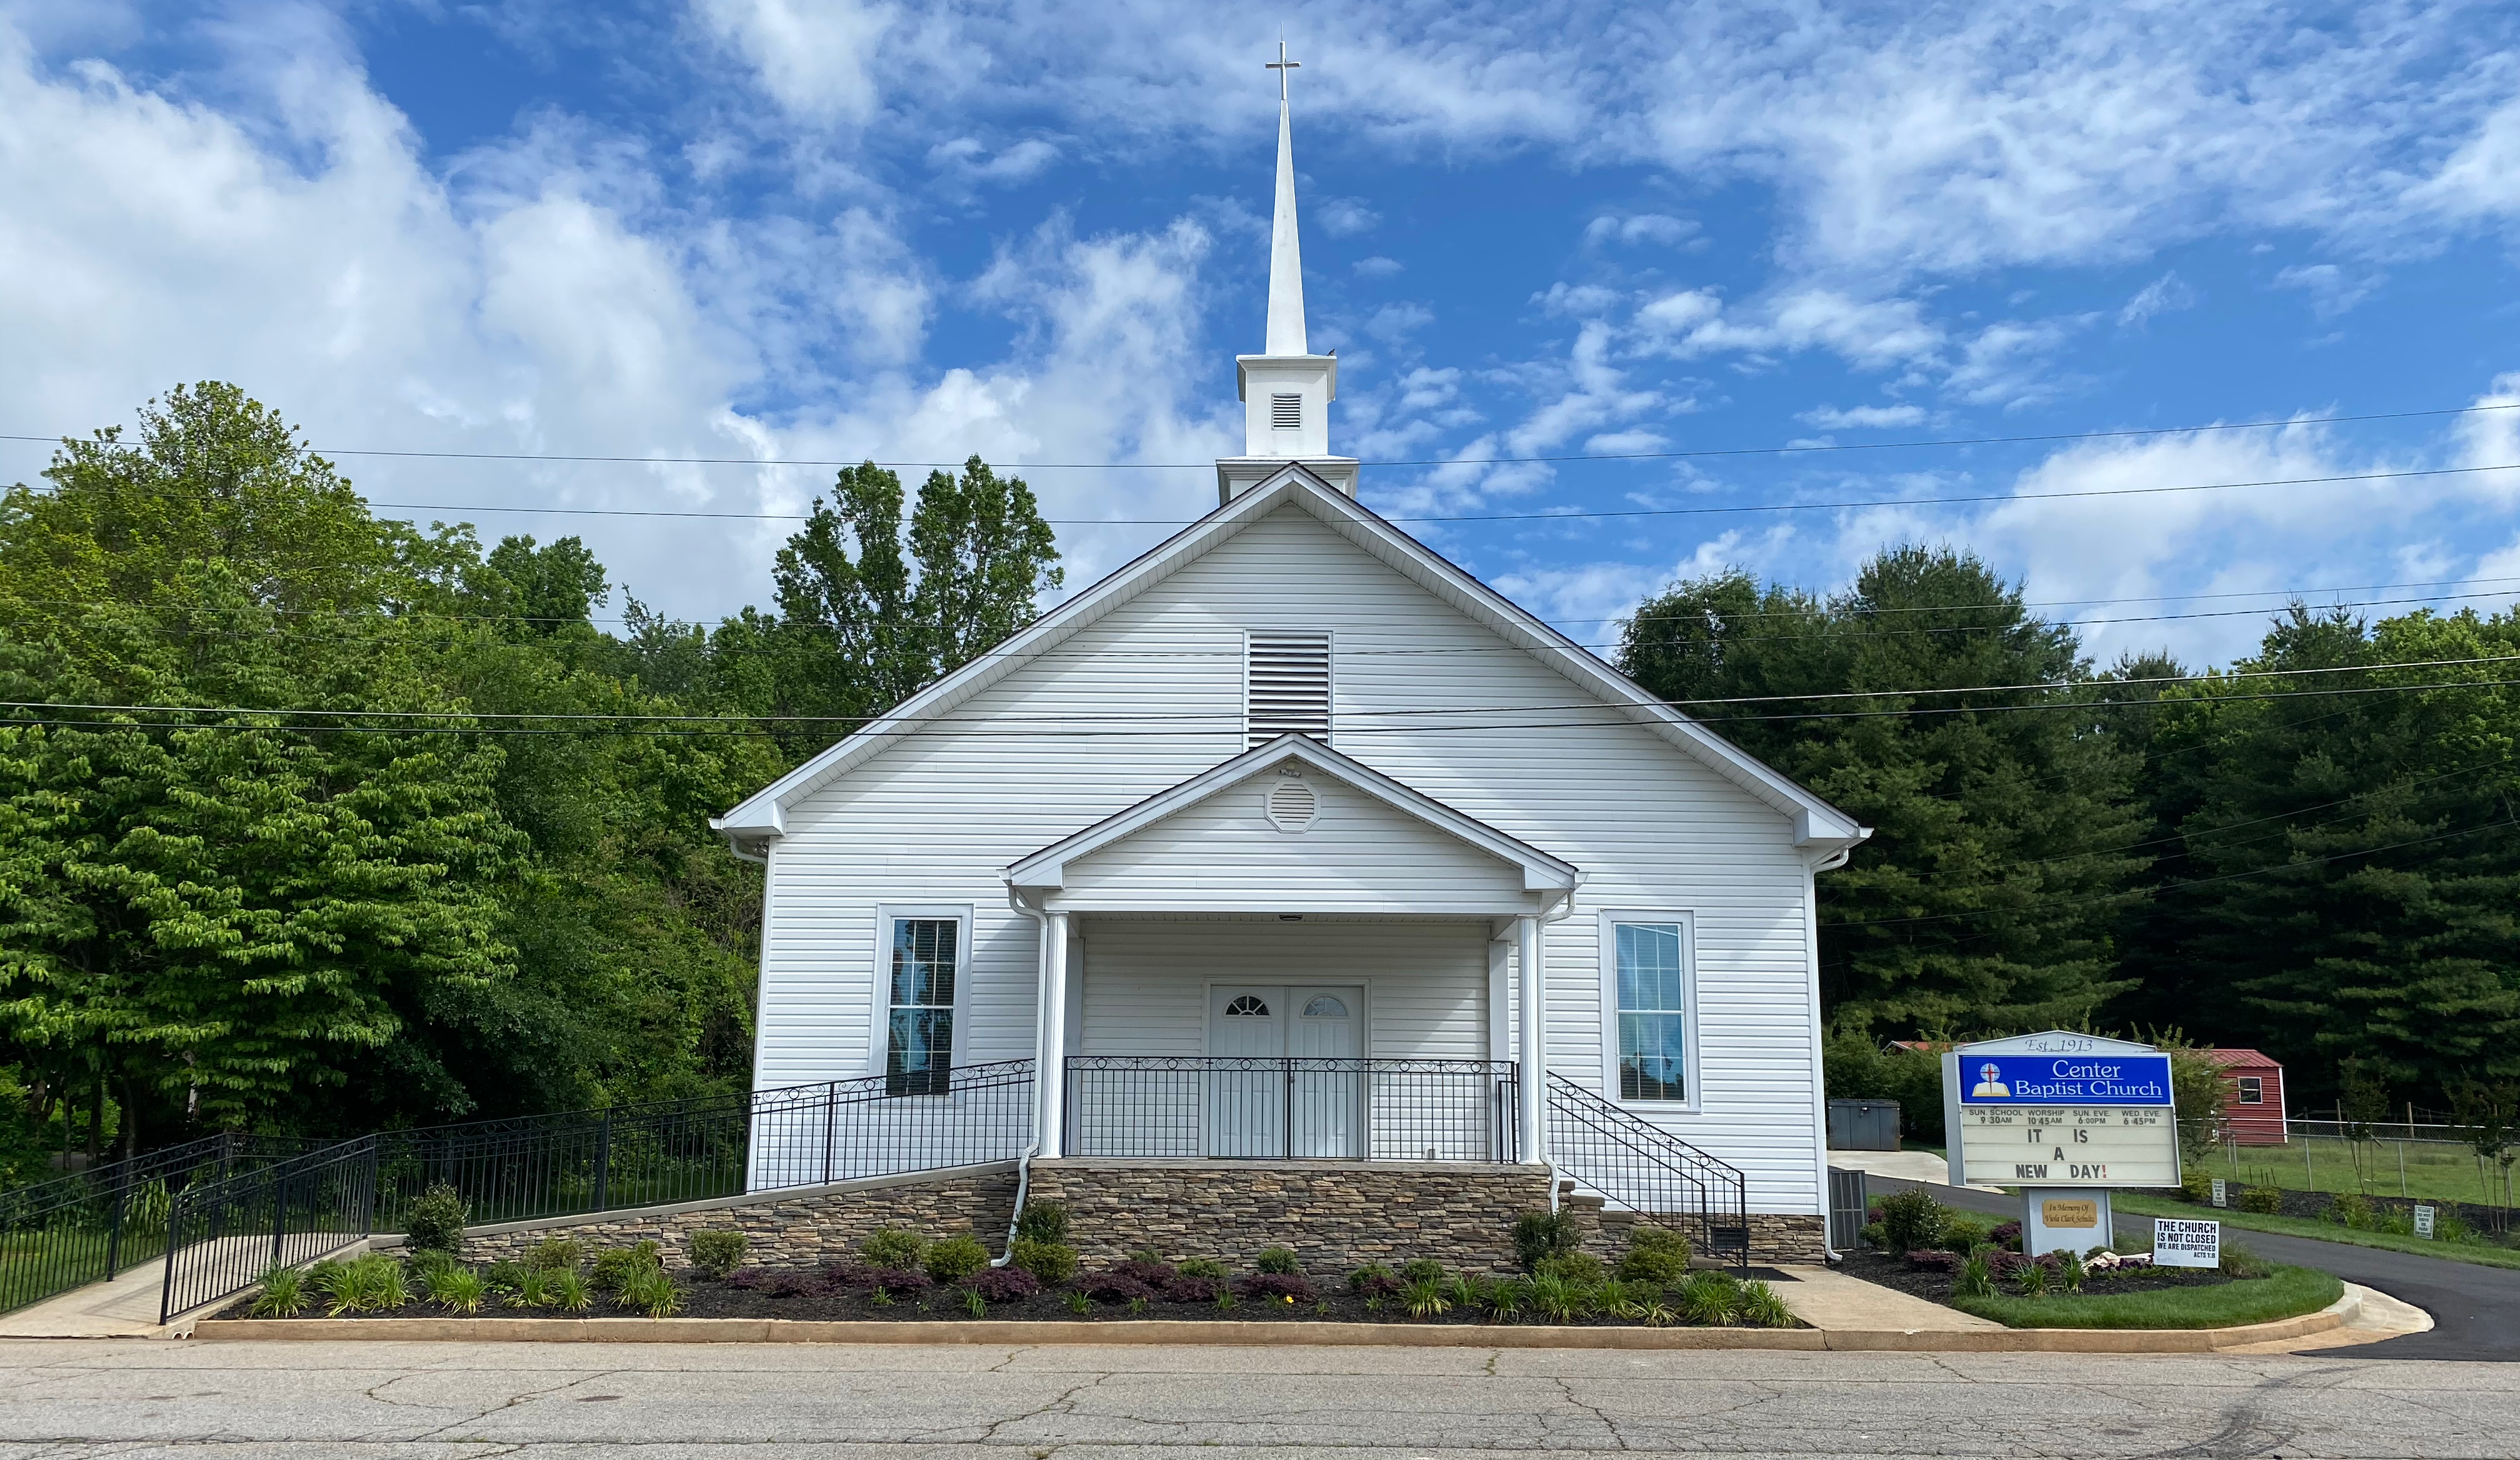
<svg viewBox="0 0 2520 1460"><path fill-rule="evenodd" d="M1890 1178L1870 1178L1865 1185L1875 1193L1920 1185L1943 1205L1988 1215L2021 1215L2021 1198L1993 1195L1978 1188ZM2119 1215L2117 1231L2124 1238L2134 1238L2134 1251L2152 1248L2152 1218ZM2384 1339L2359 1349L2328 1349L2331 1354L2369 1359L2492 1359L2505 1364L2520 1359L2520 1271L2238 1228L2228 1228L2228 1236L2248 1243L2250 1251L2268 1261L2321 1268L2432 1314L2434 1329L2429 1334L2407 1334L2404 1339Z"/></svg>

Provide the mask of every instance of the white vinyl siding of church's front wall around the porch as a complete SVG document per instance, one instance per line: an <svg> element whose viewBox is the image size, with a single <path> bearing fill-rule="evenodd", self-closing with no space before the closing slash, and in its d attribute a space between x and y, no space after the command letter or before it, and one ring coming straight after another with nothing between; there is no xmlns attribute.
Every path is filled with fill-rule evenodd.
<svg viewBox="0 0 2520 1460"><path fill-rule="evenodd" d="M1693 910L1696 1109L1635 1109L1744 1167L1751 1210L1817 1213L1807 872L1789 817L1656 731L1572 726L1608 719L1565 711L1588 691L1300 507L950 706L955 721L995 721L985 734L905 736L789 804L764 930L759 1084L869 1072L879 895L973 908L960 1059L1028 1057L1038 933L1005 905L1000 870L1240 754L1245 635L1290 625L1333 635L1341 751L1588 872L1575 915L1545 928L1552 1069L1600 1082L1598 913ZM1126 736L1023 734L1111 714L1197 719ZM1482 968L1484 943L1482 930ZM1467 1052L1484 1049L1482 1021Z"/></svg>

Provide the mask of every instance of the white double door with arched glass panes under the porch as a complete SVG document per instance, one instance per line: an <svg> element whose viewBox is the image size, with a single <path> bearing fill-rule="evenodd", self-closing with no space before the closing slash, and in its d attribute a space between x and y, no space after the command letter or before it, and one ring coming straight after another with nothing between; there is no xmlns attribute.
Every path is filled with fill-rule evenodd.
<svg viewBox="0 0 2520 1460"><path fill-rule="evenodd" d="M1363 988L1217 983L1207 991L1207 1054L1225 1062L1207 1072L1210 1155L1366 1155ZM1338 1064L1298 1064L1313 1059Z"/></svg>

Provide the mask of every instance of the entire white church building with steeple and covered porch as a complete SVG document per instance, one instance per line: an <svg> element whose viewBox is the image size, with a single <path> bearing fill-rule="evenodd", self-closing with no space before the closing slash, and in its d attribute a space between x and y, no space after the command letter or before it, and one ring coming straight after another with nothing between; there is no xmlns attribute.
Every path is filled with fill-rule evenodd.
<svg viewBox="0 0 2520 1460"><path fill-rule="evenodd" d="M1283 91L1235 376L1215 512L713 822L766 865L756 1099L854 1082L753 1188L1013 1160L1189 1246L1255 1183L1572 1193L1817 1256L1814 875L1867 830L1358 504Z"/></svg>

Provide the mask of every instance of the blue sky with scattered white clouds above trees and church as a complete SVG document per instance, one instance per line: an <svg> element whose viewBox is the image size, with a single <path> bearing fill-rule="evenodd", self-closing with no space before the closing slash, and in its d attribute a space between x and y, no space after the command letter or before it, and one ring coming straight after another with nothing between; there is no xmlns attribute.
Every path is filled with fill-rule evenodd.
<svg viewBox="0 0 2520 1460"><path fill-rule="evenodd" d="M1041 464L1081 585L1240 446L1280 25L1333 449L1580 640L1678 575L1837 588L1913 540L2117 620L2102 658L2228 661L2286 590L2520 590L2520 469L2477 472L2520 411L1494 464L2520 403L2490 5L0 0L0 431L219 376L343 451L980 451ZM701 618L766 600L829 479L343 466ZM1812 502L1885 504L1769 512Z"/></svg>

